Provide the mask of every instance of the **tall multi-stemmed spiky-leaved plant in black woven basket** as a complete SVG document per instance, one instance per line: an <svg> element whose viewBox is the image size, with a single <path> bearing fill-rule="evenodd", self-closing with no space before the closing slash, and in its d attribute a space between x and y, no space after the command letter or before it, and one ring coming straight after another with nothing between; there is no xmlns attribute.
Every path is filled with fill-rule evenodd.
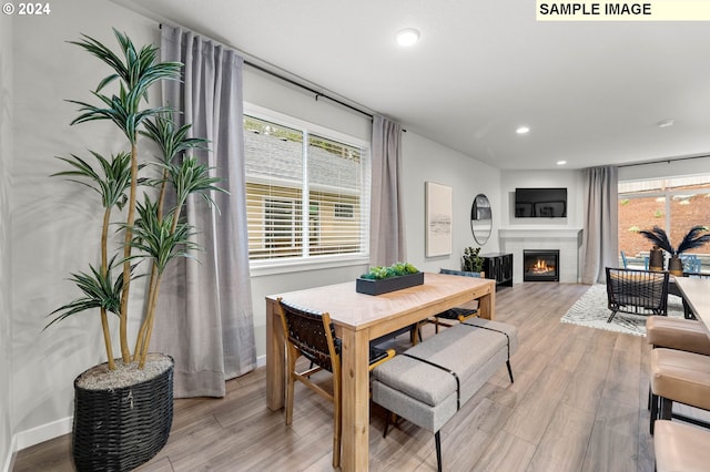
<svg viewBox="0 0 710 472"><path fill-rule="evenodd" d="M190 125L178 126L169 107L148 104L149 91L163 80L179 80L182 64L159 62L152 44L139 50L126 34L116 30L114 34L119 53L87 35L71 42L111 69L91 92L99 104L70 100L80 112L71 124L110 122L130 151L110 157L95 151L89 157L59 157L69 170L54 174L94 191L102 220L100 260L70 277L82 296L55 309L48 324L80 312L95 312L101 319L106 362L74 381L72 451L80 471L134 469L168 441L173 361L148 351L161 277L171 260L197 249L191 239L195 228L181 215L187 196L196 193L213 204L210 193L221 191L210 168L187 155L191 150L205 148L205 140L189 137ZM104 92L109 85L115 86L115 93ZM139 153L141 136L155 146ZM130 304L131 287L139 280L146 284L145 298ZM129 306L144 307L132 343ZM119 318L118 359L109 314Z"/></svg>

